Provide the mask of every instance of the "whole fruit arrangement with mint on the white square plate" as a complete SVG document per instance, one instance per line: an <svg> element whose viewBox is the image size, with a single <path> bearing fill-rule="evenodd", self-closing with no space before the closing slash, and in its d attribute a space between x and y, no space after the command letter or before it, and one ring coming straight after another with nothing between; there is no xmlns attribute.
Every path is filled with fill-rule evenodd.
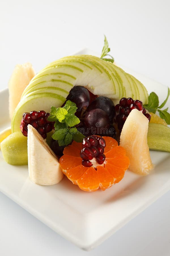
<svg viewBox="0 0 170 256"><path fill-rule="evenodd" d="M162 110L169 88L159 106L158 96L116 66L109 51L105 38L100 58L63 57L37 75L30 63L16 67L11 128L0 133L8 164L28 164L39 185L57 184L64 174L90 192L120 182L126 170L148 175L149 149L170 152L170 114Z"/></svg>

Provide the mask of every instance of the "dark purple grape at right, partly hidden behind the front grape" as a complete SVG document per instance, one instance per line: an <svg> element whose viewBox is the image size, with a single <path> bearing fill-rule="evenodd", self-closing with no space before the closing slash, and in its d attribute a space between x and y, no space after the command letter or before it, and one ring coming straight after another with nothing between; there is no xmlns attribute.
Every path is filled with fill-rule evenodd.
<svg viewBox="0 0 170 256"><path fill-rule="evenodd" d="M108 97L97 97L95 100L92 101L92 103L88 107L88 110L96 108L104 110L111 119L114 117L114 103Z"/></svg>

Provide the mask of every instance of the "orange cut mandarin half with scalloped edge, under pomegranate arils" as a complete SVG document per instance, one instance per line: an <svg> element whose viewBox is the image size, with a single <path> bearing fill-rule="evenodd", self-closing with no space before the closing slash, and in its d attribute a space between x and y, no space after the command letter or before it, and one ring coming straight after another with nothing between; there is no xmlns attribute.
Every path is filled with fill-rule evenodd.
<svg viewBox="0 0 170 256"><path fill-rule="evenodd" d="M129 158L126 156L126 150L118 146L115 139L103 137L106 142L104 154L106 156L104 164L98 164L85 167L82 165L80 151L82 143L73 143L66 146L63 156L60 158L60 166L63 173L69 180L79 186L84 191L96 191L101 188L105 190L113 184L118 183L129 167Z"/></svg>

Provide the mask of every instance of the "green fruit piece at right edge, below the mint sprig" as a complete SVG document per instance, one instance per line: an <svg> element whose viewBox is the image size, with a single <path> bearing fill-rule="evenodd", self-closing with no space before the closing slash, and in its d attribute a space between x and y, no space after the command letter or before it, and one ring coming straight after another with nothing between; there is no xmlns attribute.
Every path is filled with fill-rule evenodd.
<svg viewBox="0 0 170 256"><path fill-rule="evenodd" d="M147 138L150 149L170 152L169 127L158 123L149 123Z"/></svg>

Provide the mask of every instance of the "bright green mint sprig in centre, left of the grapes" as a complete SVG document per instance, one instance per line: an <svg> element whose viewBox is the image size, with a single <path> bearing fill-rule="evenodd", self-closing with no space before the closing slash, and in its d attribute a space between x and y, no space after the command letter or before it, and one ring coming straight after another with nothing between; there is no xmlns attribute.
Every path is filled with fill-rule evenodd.
<svg viewBox="0 0 170 256"><path fill-rule="evenodd" d="M75 116L76 104L67 100L62 108L51 107L48 121L55 121L52 138L58 141L59 146L67 146L72 140L82 142L84 135L77 131L75 125L80 119Z"/></svg>

